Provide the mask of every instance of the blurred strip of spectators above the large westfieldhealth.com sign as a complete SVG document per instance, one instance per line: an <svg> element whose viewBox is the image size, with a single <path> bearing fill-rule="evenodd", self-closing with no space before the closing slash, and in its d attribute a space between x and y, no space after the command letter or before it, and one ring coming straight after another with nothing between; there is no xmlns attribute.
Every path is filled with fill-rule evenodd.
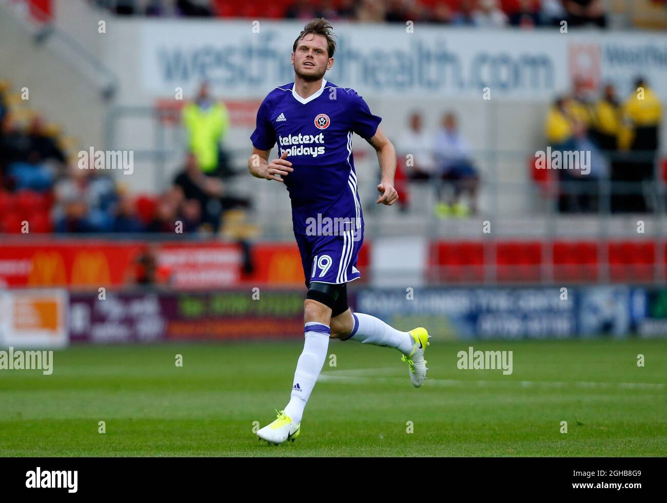
<svg viewBox="0 0 667 503"><path fill-rule="evenodd" d="M603 0L88 0L119 15L269 17L478 27L607 25Z"/></svg>

